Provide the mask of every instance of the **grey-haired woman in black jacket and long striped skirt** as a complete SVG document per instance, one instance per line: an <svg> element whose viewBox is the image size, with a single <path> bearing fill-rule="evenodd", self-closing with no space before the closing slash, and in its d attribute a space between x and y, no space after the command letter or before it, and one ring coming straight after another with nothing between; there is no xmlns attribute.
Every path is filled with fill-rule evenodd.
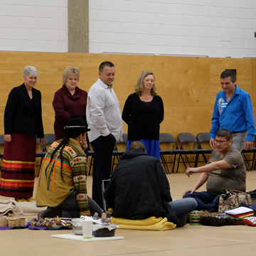
<svg viewBox="0 0 256 256"><path fill-rule="evenodd" d="M26 66L24 82L14 87L4 111L4 160L1 169L0 195L17 202L34 201L36 137L45 144L43 135L41 92L33 88L38 72Z"/></svg>

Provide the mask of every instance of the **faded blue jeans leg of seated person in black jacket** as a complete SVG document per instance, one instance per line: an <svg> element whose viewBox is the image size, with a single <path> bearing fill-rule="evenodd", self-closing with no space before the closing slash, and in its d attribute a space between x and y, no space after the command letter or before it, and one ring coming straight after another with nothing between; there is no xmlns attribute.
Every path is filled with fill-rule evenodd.
<svg viewBox="0 0 256 256"><path fill-rule="evenodd" d="M169 202L169 205L174 208L178 217L182 217L196 210L196 200L194 198L183 198Z"/></svg>

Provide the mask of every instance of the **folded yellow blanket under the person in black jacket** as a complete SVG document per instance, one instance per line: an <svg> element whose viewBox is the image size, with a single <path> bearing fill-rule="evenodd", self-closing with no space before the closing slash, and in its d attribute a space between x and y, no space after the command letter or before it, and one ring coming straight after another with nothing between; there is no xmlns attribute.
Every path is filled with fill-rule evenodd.
<svg viewBox="0 0 256 256"><path fill-rule="evenodd" d="M168 222L167 218L150 217L145 220L127 220L124 218L111 217L111 223L119 225L119 228L134 230L171 230L176 228L176 224Z"/></svg>

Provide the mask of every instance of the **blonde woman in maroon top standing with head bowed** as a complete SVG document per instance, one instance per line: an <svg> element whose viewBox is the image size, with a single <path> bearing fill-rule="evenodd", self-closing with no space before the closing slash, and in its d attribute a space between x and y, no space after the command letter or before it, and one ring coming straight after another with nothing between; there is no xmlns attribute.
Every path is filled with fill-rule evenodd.
<svg viewBox="0 0 256 256"><path fill-rule="evenodd" d="M65 138L64 127L71 116L85 118L87 92L78 88L79 76L78 68L66 68L63 72L63 87L55 92L53 98L55 140Z"/></svg>

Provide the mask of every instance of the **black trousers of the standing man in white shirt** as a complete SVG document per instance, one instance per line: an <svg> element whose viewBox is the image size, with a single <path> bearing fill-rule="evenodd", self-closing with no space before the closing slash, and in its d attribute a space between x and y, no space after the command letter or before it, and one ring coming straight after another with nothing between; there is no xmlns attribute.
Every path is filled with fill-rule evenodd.
<svg viewBox="0 0 256 256"><path fill-rule="evenodd" d="M92 173L92 199L103 208L102 181L110 178L112 151L116 140L112 134L100 136L91 142L95 151Z"/></svg>

